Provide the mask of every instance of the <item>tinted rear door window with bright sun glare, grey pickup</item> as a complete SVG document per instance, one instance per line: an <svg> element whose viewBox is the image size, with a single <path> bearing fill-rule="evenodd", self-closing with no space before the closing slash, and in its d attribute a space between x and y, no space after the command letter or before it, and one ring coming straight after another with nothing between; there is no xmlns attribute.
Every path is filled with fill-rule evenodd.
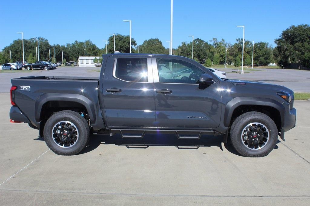
<svg viewBox="0 0 310 206"><path fill-rule="evenodd" d="M146 58L117 58L115 76L128 82L148 82Z"/></svg>

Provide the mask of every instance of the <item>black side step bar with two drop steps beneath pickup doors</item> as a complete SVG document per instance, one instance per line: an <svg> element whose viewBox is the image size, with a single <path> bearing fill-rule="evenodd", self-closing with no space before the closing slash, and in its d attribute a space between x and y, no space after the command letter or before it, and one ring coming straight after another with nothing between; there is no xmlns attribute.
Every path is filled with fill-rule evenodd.
<svg viewBox="0 0 310 206"><path fill-rule="evenodd" d="M119 133L122 138L143 138L145 134L175 134L178 139L200 139L201 135L215 135L213 130L133 130L133 129L111 129L110 134Z"/></svg>

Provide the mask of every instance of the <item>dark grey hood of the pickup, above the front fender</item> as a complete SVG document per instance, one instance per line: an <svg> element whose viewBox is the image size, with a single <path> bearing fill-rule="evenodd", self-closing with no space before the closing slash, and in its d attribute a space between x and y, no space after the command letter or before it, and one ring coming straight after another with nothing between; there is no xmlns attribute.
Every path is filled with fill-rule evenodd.
<svg viewBox="0 0 310 206"><path fill-rule="evenodd" d="M272 89L272 90L278 90L279 92L286 92L293 94L294 92L290 90L289 88L277 84L269 84L264 82L258 82L258 81L250 81L250 80L241 80L241 79L229 79L230 82L236 85L236 83L245 83L245 86L249 87L256 87L260 89Z"/></svg>

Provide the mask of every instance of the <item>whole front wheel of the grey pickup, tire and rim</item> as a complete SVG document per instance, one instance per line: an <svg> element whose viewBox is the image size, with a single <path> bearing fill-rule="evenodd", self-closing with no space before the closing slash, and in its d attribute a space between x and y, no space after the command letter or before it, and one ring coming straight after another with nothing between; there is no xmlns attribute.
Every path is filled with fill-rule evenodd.
<svg viewBox="0 0 310 206"><path fill-rule="evenodd" d="M263 157L276 146L278 129L267 115L250 111L233 122L230 129L232 146L245 157Z"/></svg>

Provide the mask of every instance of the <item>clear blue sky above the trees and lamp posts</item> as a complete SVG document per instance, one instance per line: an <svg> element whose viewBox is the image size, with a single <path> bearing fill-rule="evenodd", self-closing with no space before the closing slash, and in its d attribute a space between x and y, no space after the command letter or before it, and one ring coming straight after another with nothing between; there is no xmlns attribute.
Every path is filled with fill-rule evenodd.
<svg viewBox="0 0 310 206"><path fill-rule="evenodd" d="M309 8L309 0L174 0L173 48L191 41L188 35L234 43L242 37L237 25L245 25L247 40L275 46L274 39L289 26L310 24ZM132 37L138 44L159 38L169 47L170 0L1 0L0 9L0 48L21 38L16 32L24 32L25 39L41 36L60 45L90 39L103 48L108 34L129 35L124 19L132 20Z"/></svg>

